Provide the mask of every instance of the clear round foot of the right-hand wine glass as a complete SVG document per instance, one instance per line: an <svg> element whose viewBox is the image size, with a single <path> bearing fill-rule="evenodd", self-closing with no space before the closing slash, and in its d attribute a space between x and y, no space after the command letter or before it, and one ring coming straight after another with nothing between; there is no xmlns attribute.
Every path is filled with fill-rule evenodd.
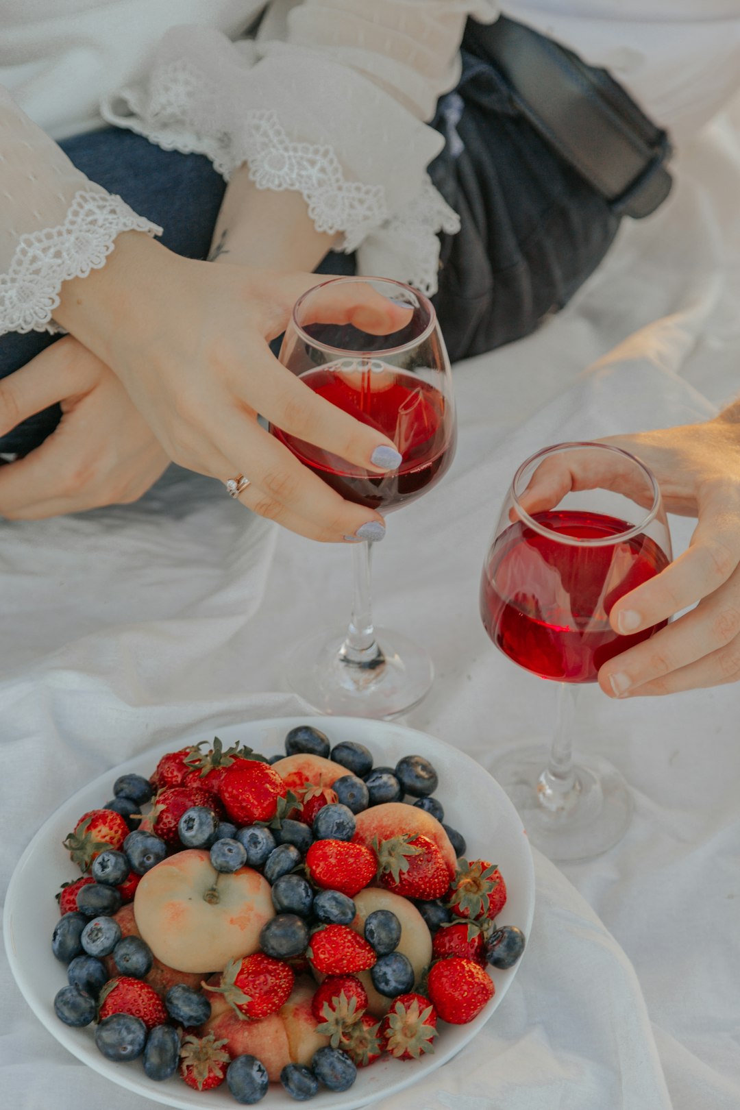
<svg viewBox="0 0 740 1110"><path fill-rule="evenodd" d="M632 796L619 771L607 759L589 756L576 764L577 788L560 809L541 781L548 750L515 749L494 764L493 775L514 803L530 844L557 862L591 859L624 837L632 816Z"/></svg>

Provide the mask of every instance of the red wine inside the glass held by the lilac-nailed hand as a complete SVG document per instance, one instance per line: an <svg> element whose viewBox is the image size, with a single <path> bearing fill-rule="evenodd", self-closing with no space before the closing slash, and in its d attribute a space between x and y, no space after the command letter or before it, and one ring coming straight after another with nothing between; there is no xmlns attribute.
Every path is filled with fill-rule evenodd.
<svg viewBox="0 0 740 1110"><path fill-rule="evenodd" d="M415 501L447 471L455 453L452 405L417 374L374 359L310 370L301 381L387 435L403 455L397 471L377 474L273 428L305 466L346 501L387 513Z"/></svg>

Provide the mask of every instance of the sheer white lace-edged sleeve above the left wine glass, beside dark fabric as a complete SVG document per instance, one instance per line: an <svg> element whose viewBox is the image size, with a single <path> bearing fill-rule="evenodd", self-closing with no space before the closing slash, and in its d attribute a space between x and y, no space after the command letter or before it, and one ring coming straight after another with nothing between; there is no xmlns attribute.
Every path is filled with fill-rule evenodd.
<svg viewBox="0 0 740 1110"><path fill-rule="evenodd" d="M259 188L298 191L320 231L361 248L362 272L434 292L437 232L459 220L426 173L444 140L424 121L458 80L467 16L497 13L494 0L303 0L282 39L270 16L257 41L174 28L103 115L226 179L246 162Z"/></svg>

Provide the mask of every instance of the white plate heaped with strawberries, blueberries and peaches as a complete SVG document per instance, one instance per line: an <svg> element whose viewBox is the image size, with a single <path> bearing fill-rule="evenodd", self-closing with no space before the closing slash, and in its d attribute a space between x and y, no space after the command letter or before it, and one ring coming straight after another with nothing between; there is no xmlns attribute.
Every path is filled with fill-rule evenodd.
<svg viewBox="0 0 740 1110"><path fill-rule="evenodd" d="M352 1110L475 1036L533 911L477 763L395 723L276 718L80 790L19 860L4 935L43 1025L129 1090Z"/></svg>

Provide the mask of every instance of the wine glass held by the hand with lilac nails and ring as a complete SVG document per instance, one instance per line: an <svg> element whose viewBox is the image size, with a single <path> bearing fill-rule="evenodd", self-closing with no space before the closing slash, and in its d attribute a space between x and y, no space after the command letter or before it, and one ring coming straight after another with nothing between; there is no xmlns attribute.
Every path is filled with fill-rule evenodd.
<svg viewBox="0 0 740 1110"><path fill-rule="evenodd" d="M343 306L368 295L407 310L401 313L404 325L372 334L342 322ZM456 442L449 360L434 306L423 293L381 278L324 282L297 301L280 361L320 396L387 435L402 455L396 471L377 474L272 428L347 501L386 515L427 493L448 470ZM287 660L291 687L323 713L394 717L417 705L432 685L434 668L424 648L373 624L372 551L366 541L352 548L348 626L298 644Z"/></svg>

